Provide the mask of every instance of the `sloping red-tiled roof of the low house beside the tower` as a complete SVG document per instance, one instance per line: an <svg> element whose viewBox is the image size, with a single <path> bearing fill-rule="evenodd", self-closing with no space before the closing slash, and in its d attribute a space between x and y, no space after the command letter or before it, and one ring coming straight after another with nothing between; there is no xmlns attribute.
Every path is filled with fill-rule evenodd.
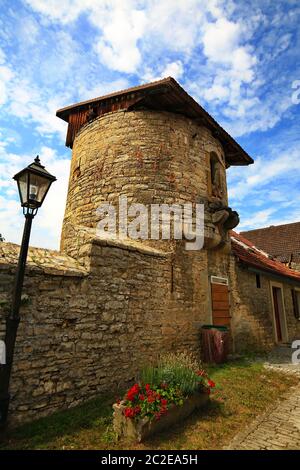
<svg viewBox="0 0 300 470"><path fill-rule="evenodd" d="M300 282L300 272L293 271L280 261L271 259L268 253L260 250L243 235L234 231L231 231L231 247L233 254L242 263L267 273L277 274Z"/></svg>

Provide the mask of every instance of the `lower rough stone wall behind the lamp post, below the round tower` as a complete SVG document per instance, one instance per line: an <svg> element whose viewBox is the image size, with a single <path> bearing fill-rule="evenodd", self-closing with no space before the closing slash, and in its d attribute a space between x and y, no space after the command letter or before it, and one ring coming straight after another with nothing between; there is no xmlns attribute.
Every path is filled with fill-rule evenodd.
<svg viewBox="0 0 300 470"><path fill-rule="evenodd" d="M127 386L164 351L199 354L207 322L206 252L159 252L82 242L82 264L30 249L11 380L17 424ZM86 259L86 266L83 260ZM0 325L10 306L17 246L2 243Z"/></svg>

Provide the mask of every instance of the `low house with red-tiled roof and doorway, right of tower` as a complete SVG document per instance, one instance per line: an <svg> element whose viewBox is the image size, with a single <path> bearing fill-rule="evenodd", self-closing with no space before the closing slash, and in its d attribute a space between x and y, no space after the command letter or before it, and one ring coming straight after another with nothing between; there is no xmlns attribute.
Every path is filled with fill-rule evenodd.
<svg viewBox="0 0 300 470"><path fill-rule="evenodd" d="M234 347L266 349L300 338L300 273L232 232L231 329Z"/></svg>

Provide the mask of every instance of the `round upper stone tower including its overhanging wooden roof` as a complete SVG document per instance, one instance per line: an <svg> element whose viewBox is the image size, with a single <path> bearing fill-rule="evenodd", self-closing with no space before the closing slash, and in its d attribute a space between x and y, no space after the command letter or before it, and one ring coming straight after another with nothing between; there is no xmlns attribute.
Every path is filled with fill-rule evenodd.
<svg viewBox="0 0 300 470"><path fill-rule="evenodd" d="M57 116L69 124L66 145L73 149L62 251L73 255L76 229L95 229L97 208L117 205L120 195L146 205L204 203L206 247L224 244L226 168L252 159L173 78L68 106Z"/></svg>

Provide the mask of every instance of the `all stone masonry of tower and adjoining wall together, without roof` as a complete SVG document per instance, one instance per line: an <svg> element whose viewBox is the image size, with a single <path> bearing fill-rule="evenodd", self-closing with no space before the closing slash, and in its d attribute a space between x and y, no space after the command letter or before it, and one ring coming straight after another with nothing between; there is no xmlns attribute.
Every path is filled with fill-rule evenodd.
<svg viewBox="0 0 300 470"><path fill-rule="evenodd" d="M29 252L11 382L14 424L111 395L164 351L199 354L199 327L211 322L209 274L224 275L228 251L186 251L184 240L99 239L96 209L120 195L129 203L198 202L207 209L215 202L210 152L222 162L226 204L222 146L187 117L119 111L77 134L62 251ZM219 243L209 217L206 210L206 237ZM2 335L17 252L0 244Z"/></svg>

